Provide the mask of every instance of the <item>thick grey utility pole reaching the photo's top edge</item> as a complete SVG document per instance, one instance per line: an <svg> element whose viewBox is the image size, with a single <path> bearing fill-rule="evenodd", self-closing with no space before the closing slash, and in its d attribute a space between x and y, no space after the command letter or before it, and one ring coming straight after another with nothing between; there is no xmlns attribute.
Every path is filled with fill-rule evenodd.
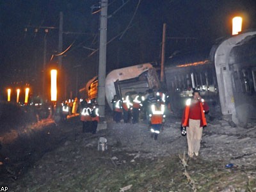
<svg viewBox="0 0 256 192"><path fill-rule="evenodd" d="M99 84L97 102L100 117L105 117L105 81L106 81L106 49L108 25L108 0L100 3L100 45L99 45Z"/></svg>

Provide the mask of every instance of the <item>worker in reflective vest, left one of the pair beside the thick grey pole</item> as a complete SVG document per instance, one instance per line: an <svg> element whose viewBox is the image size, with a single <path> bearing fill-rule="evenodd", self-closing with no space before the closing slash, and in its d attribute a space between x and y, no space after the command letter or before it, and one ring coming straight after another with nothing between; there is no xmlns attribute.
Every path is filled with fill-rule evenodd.
<svg viewBox="0 0 256 192"><path fill-rule="evenodd" d="M90 104L86 104L86 106L84 106L84 108L81 111L80 119L83 122L83 132L90 132L92 127Z"/></svg>

